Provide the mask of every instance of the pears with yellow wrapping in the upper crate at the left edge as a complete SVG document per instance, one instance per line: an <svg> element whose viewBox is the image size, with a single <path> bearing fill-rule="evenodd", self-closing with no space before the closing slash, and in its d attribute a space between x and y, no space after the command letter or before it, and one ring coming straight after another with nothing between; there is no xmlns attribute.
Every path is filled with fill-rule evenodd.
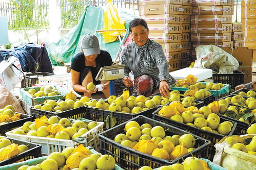
<svg viewBox="0 0 256 170"><path fill-rule="evenodd" d="M15 107L12 105L7 105L0 110L0 125L4 125L9 122L21 119L20 114L16 114Z"/></svg>

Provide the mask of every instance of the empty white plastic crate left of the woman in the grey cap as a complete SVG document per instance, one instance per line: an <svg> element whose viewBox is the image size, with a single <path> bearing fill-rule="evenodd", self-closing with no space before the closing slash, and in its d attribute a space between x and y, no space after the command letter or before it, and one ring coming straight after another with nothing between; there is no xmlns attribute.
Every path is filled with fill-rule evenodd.
<svg viewBox="0 0 256 170"><path fill-rule="evenodd" d="M71 74L63 74L63 75L53 75L53 76L45 76L38 77L40 83L50 83L59 85L67 90L73 90Z"/></svg>

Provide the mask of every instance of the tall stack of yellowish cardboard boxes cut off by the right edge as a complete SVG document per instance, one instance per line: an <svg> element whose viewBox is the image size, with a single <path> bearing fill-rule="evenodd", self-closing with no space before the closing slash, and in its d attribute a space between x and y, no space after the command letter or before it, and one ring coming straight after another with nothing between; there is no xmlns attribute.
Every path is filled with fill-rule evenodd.
<svg viewBox="0 0 256 170"><path fill-rule="evenodd" d="M256 0L242 1L242 24L244 31L244 45L256 53ZM256 61L256 58L253 58Z"/></svg>

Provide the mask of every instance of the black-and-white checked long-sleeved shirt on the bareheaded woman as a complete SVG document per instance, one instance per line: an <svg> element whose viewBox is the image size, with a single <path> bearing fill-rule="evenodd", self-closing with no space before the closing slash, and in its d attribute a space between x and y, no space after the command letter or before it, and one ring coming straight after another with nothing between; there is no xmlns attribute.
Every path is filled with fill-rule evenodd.
<svg viewBox="0 0 256 170"><path fill-rule="evenodd" d="M169 85L175 79L169 75L168 61L165 58L162 46L148 39L142 46L134 41L128 44L122 52L121 64L125 64L125 77L133 72L134 78L149 75L154 82L154 88L159 87L160 80L166 80Z"/></svg>

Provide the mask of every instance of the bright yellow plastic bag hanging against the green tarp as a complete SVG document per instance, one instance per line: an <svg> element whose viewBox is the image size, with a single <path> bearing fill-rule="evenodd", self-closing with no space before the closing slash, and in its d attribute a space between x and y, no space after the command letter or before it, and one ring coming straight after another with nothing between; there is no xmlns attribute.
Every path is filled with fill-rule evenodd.
<svg viewBox="0 0 256 170"><path fill-rule="evenodd" d="M106 9L104 10L104 26L102 30L117 30L125 29L125 20L119 16L118 11L112 4L112 0L107 1ZM100 32L103 35L104 42L114 42L121 34L123 36L125 31L106 31Z"/></svg>

